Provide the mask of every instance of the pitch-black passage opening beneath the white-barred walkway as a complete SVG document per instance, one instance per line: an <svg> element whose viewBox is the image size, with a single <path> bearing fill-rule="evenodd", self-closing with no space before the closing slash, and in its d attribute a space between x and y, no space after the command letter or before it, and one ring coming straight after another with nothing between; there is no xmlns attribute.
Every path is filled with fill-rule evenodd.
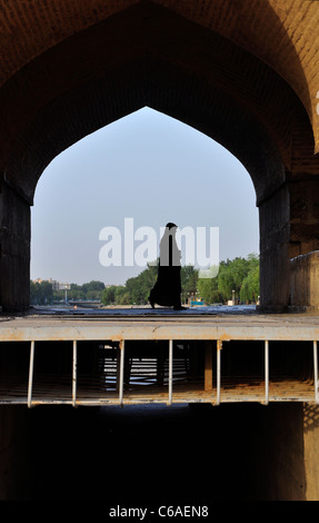
<svg viewBox="0 0 319 523"><path fill-rule="evenodd" d="M251 404L33 408L24 494L104 506L262 500L265 413Z"/></svg>

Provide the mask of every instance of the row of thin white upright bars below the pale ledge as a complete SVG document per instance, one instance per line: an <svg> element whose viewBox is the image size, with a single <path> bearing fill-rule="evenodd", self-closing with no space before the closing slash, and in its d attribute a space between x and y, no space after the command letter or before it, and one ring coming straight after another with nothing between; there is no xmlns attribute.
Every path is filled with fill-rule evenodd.
<svg viewBox="0 0 319 523"><path fill-rule="evenodd" d="M0 343L0 404L319 403L317 341Z"/></svg>

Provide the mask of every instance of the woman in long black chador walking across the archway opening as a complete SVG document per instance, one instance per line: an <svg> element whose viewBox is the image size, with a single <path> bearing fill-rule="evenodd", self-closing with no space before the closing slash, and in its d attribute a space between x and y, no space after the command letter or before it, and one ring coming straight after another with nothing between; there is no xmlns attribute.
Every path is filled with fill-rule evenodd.
<svg viewBox="0 0 319 523"><path fill-rule="evenodd" d="M162 239L160 240L160 258L157 283L150 292L149 300L154 304L183 308L180 302L180 258L181 253L176 243L177 225L167 224Z"/></svg>

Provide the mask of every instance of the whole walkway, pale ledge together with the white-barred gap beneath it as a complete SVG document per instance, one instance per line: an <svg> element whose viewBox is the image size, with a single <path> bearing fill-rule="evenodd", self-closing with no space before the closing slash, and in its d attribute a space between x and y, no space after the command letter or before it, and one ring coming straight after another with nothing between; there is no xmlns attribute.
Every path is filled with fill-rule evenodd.
<svg viewBox="0 0 319 523"><path fill-rule="evenodd" d="M319 316L252 308L0 317L0 404L319 403Z"/></svg>

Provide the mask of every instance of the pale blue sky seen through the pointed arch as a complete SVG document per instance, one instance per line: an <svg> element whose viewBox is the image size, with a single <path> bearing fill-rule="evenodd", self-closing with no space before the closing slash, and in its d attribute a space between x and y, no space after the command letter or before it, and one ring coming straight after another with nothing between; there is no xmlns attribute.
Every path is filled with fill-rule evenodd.
<svg viewBox="0 0 319 523"><path fill-rule="evenodd" d="M59 155L32 208L31 278L124 284L140 267L103 267L100 230L168 221L219 227L220 259L259 251L258 209L245 167L207 136L144 108ZM138 244L137 244L138 245Z"/></svg>

